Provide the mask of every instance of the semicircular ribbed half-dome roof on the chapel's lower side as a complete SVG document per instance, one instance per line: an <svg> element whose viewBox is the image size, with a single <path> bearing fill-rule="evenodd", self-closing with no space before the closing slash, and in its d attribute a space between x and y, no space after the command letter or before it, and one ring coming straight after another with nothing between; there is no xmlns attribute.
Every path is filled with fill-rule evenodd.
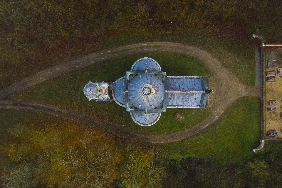
<svg viewBox="0 0 282 188"><path fill-rule="evenodd" d="M155 124L161 117L161 113L137 113L130 112L130 116L135 123L141 126L150 126Z"/></svg>

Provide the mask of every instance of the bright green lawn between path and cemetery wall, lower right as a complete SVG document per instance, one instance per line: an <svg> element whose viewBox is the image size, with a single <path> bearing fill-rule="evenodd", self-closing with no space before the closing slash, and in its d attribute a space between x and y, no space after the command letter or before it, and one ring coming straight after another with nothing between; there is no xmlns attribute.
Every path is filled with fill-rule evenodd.
<svg viewBox="0 0 282 188"><path fill-rule="evenodd" d="M260 107L256 97L241 97L212 127L188 139L160 144L171 158L201 157L245 161L258 146Z"/></svg>

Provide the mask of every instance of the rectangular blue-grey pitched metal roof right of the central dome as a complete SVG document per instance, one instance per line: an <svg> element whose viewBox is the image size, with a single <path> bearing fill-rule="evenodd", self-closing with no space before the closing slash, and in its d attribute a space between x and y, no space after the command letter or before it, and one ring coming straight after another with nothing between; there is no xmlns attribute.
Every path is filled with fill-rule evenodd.
<svg viewBox="0 0 282 188"><path fill-rule="evenodd" d="M206 89L204 76L167 76L167 108L204 108Z"/></svg>

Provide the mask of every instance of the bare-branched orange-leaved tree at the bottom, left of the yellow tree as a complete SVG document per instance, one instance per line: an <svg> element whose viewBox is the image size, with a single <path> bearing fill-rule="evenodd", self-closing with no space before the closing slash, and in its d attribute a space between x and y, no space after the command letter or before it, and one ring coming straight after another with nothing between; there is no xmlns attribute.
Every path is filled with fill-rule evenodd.
<svg viewBox="0 0 282 188"><path fill-rule="evenodd" d="M69 147L66 155L58 159L60 166L68 168L69 172L61 185L103 188L113 182L117 176L115 164L120 162L120 154L110 145L109 139L97 139L97 136L98 134L86 134L80 140L80 145Z"/></svg>

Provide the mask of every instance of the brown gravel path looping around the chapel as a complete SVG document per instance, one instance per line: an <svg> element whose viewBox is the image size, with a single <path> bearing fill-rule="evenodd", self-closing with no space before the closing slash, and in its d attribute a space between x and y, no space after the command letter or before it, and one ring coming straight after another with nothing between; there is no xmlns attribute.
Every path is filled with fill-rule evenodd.
<svg viewBox="0 0 282 188"><path fill-rule="evenodd" d="M240 97L261 97L261 91L259 87L251 87L241 83L241 81L239 81L239 79L236 78L236 76L234 76L234 74L229 69L225 68L213 55L202 49L179 43L150 42L146 44L134 44L129 46L122 46L115 49L109 49L107 51L101 51L99 53L74 59L72 61L68 61L66 63L43 70L33 76L30 76L2 89L0 91L0 99L8 98L12 94L16 94L17 92L26 89L34 84L48 80L74 69L78 69L90 64L103 63L104 60L111 59L117 56L135 54L144 51L169 51L187 54L199 59L206 66L208 66L211 81L210 87L214 92L210 95L211 102L209 104L209 108L212 109L212 114L210 114L201 122L187 129L162 134L149 134L120 127L114 124L108 124L98 119L93 119L76 112L46 104L20 101L1 101L0 109L21 109L54 114L93 124L98 128L113 132L119 136L153 143L164 143L182 140L192 135L198 134L204 129L207 129L207 127L211 126L216 121L216 119L220 117L220 115L230 104L232 104Z"/></svg>

